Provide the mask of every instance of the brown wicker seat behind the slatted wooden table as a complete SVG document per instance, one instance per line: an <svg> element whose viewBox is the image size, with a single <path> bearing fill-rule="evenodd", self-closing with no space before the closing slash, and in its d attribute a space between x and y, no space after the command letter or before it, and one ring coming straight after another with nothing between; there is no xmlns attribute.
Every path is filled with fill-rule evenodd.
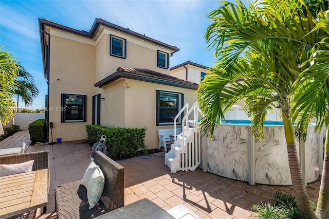
<svg viewBox="0 0 329 219"><path fill-rule="evenodd" d="M48 194L49 194L49 187L50 187L49 151L0 156L0 163L7 165L14 163L22 163L29 160L34 160L32 171L48 169ZM47 208L44 207L43 212L46 212L46 210ZM33 215L33 213L30 214ZM13 218L16 218L17 216L13 216Z"/></svg>

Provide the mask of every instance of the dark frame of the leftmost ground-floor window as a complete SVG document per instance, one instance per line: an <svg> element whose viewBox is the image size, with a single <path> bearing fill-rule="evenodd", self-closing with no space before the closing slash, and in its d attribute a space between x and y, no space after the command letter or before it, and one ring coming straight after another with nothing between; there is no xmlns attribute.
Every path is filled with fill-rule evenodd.
<svg viewBox="0 0 329 219"><path fill-rule="evenodd" d="M65 116L68 111L66 110L65 106L65 96L80 96L82 97L82 119L69 119L66 120ZM82 94L68 94L68 93L62 93L61 94L61 123L71 123L71 122L86 122L87 120L87 95L82 95Z"/></svg>

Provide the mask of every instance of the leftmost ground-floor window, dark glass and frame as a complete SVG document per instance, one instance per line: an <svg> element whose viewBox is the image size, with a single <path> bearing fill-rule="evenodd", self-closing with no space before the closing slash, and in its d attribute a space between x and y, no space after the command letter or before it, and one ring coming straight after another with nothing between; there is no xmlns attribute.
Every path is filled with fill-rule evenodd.
<svg viewBox="0 0 329 219"><path fill-rule="evenodd" d="M62 94L61 122L85 122L86 99L86 95Z"/></svg>

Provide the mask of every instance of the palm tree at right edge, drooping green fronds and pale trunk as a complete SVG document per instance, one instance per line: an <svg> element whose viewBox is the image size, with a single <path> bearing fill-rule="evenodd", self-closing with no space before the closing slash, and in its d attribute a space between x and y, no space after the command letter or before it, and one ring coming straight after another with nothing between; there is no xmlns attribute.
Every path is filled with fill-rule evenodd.
<svg viewBox="0 0 329 219"><path fill-rule="evenodd" d="M320 12L314 31L324 30L329 34L329 18L325 12ZM322 49L320 49L322 47ZM294 89L294 105L291 108L293 119L298 122L299 134L304 136L309 121L317 119L316 131L325 124L326 134L324 143L324 160L321 186L317 204L316 215L318 218L329 217L329 43L324 38L316 44L310 56L311 66L299 75ZM305 62L305 63L308 63Z"/></svg>

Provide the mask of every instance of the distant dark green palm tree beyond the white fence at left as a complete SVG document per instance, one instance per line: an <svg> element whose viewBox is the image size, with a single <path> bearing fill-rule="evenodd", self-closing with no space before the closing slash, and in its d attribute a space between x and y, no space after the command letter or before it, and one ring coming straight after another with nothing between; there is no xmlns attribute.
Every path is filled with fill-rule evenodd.
<svg viewBox="0 0 329 219"><path fill-rule="evenodd" d="M39 89L34 84L33 76L26 71L22 63L17 63L17 66L19 77L15 81L13 89L17 95L17 112L19 112L19 97L22 97L22 101L24 101L26 106L31 106L33 98L39 95Z"/></svg>

